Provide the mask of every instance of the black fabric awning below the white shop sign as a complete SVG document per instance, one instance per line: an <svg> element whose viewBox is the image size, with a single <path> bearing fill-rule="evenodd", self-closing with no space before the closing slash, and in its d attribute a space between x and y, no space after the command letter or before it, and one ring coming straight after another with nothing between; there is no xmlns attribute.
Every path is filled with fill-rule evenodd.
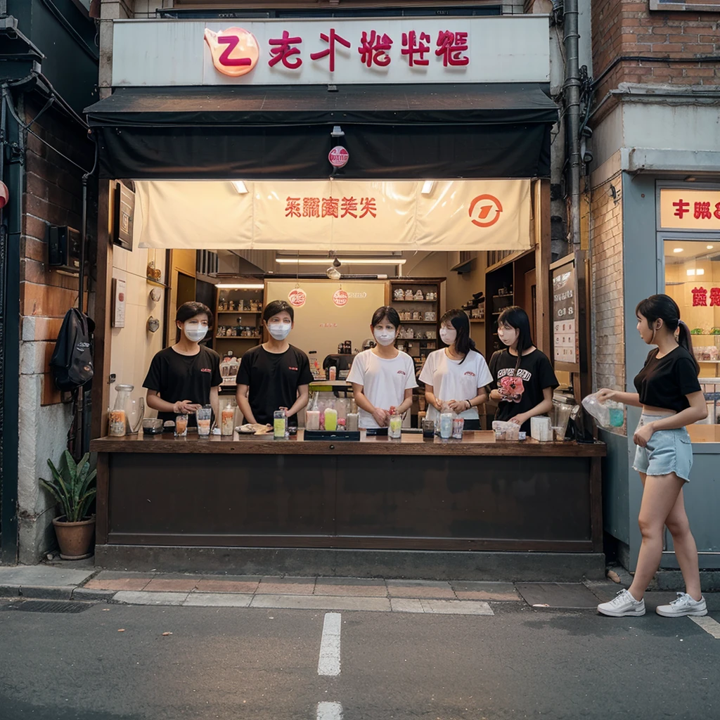
<svg viewBox="0 0 720 720"><path fill-rule="evenodd" d="M536 85L120 88L86 110L106 178L549 176L557 106Z"/></svg>

